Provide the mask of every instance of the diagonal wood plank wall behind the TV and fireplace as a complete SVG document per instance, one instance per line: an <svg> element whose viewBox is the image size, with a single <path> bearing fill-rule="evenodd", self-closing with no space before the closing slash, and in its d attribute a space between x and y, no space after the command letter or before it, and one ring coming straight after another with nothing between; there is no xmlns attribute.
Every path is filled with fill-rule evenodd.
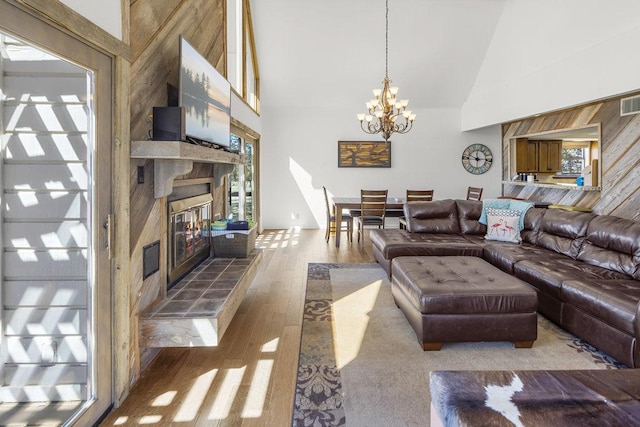
<svg viewBox="0 0 640 427"><path fill-rule="evenodd" d="M223 0L131 0L131 140L149 139L154 106L167 105L167 84L178 86L179 35L226 75L225 2ZM162 143L162 142L158 142ZM137 168L144 167L144 183ZM131 160L131 286L130 383L153 360L155 352L138 349L138 315L164 295L166 287L166 199L153 197L153 161ZM213 177L212 165L195 164L179 179ZM224 214L224 186L214 190L213 212ZM161 242L161 270L142 280L142 248Z"/></svg>

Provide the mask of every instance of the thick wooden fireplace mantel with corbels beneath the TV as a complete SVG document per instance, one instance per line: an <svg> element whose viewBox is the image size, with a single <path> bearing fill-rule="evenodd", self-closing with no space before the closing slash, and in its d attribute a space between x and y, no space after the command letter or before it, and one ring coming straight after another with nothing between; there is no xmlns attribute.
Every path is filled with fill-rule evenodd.
<svg viewBox="0 0 640 427"><path fill-rule="evenodd" d="M153 192L159 199L173 191L173 180L193 169L193 162L213 163L216 186L235 165L247 162L244 154L188 144L182 141L132 141L132 159L153 159Z"/></svg>

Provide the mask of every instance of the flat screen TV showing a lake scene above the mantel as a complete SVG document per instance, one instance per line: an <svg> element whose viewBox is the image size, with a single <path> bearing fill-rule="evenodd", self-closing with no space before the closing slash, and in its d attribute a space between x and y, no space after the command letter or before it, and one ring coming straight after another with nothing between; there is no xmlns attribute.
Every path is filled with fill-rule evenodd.
<svg viewBox="0 0 640 427"><path fill-rule="evenodd" d="M229 147L231 85L180 36L178 103L185 110L188 138Z"/></svg>

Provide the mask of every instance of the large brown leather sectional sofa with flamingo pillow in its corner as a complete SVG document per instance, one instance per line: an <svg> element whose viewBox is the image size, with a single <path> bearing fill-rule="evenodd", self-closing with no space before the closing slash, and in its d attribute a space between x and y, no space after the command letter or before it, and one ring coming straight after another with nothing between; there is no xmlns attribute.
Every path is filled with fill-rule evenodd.
<svg viewBox="0 0 640 427"><path fill-rule="evenodd" d="M400 256L482 257L538 291L538 311L620 362L640 366L640 222L530 208L522 243L486 241L482 202L405 204L407 230L372 230L391 276Z"/></svg>

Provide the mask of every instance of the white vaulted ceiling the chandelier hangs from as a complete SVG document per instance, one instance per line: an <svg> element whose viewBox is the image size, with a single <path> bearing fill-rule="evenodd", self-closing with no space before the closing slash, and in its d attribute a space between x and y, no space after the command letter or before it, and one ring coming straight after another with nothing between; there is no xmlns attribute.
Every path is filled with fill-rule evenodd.
<svg viewBox="0 0 640 427"><path fill-rule="evenodd" d="M506 0L390 0L389 77L412 108L460 108ZM364 110L385 74L385 0L252 0L265 106Z"/></svg>

